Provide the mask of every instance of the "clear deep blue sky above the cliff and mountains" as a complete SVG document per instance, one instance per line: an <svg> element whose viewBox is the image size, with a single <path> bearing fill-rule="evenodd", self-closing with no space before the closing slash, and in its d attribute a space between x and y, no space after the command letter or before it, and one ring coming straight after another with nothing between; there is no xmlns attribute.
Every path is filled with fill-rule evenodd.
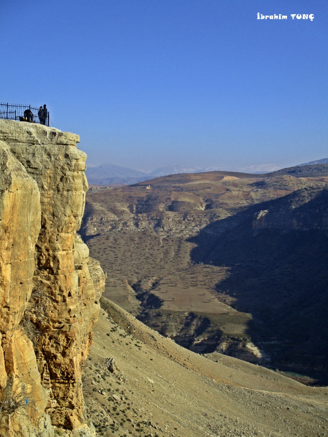
<svg viewBox="0 0 328 437"><path fill-rule="evenodd" d="M47 104L87 163L328 156L327 1L0 2L0 100ZM257 20L257 13L287 20ZM293 20L291 14L314 14Z"/></svg>

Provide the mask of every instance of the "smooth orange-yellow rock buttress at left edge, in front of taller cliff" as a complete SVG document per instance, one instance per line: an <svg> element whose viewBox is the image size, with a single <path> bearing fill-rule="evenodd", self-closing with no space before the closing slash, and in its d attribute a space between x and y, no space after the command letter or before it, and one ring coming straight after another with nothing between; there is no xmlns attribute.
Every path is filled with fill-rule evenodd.
<svg viewBox="0 0 328 437"><path fill-rule="evenodd" d="M34 249L40 231L40 193L24 166L0 142L0 432L2 435L34 436L44 431L42 417L47 396L33 345L19 326L32 291ZM14 394L14 395L12 395ZM4 414L10 401L20 404L26 397L38 399L26 404L30 420L22 423L18 414ZM17 411L16 410L16 411Z"/></svg>

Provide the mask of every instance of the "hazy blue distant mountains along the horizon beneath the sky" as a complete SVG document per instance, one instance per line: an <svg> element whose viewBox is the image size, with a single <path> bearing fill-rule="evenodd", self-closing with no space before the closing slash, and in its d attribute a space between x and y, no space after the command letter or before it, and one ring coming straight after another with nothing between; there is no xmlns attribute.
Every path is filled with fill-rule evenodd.
<svg viewBox="0 0 328 437"><path fill-rule="evenodd" d="M311 161L309 163L298 164L298 166L306 166L313 164L328 163L328 158L322 160ZM234 171L252 174L271 173L279 170L279 167L274 164L261 164L258 166L248 167L206 167L192 168L178 166L176 164L166 167L159 167L156 170L146 173L140 170L133 170L128 167L120 167L114 164L101 164L100 166L87 166L86 176L89 184L94 185L130 185L143 182L145 180L154 179L155 177L167 176L169 174L179 173L204 173L206 171Z"/></svg>

